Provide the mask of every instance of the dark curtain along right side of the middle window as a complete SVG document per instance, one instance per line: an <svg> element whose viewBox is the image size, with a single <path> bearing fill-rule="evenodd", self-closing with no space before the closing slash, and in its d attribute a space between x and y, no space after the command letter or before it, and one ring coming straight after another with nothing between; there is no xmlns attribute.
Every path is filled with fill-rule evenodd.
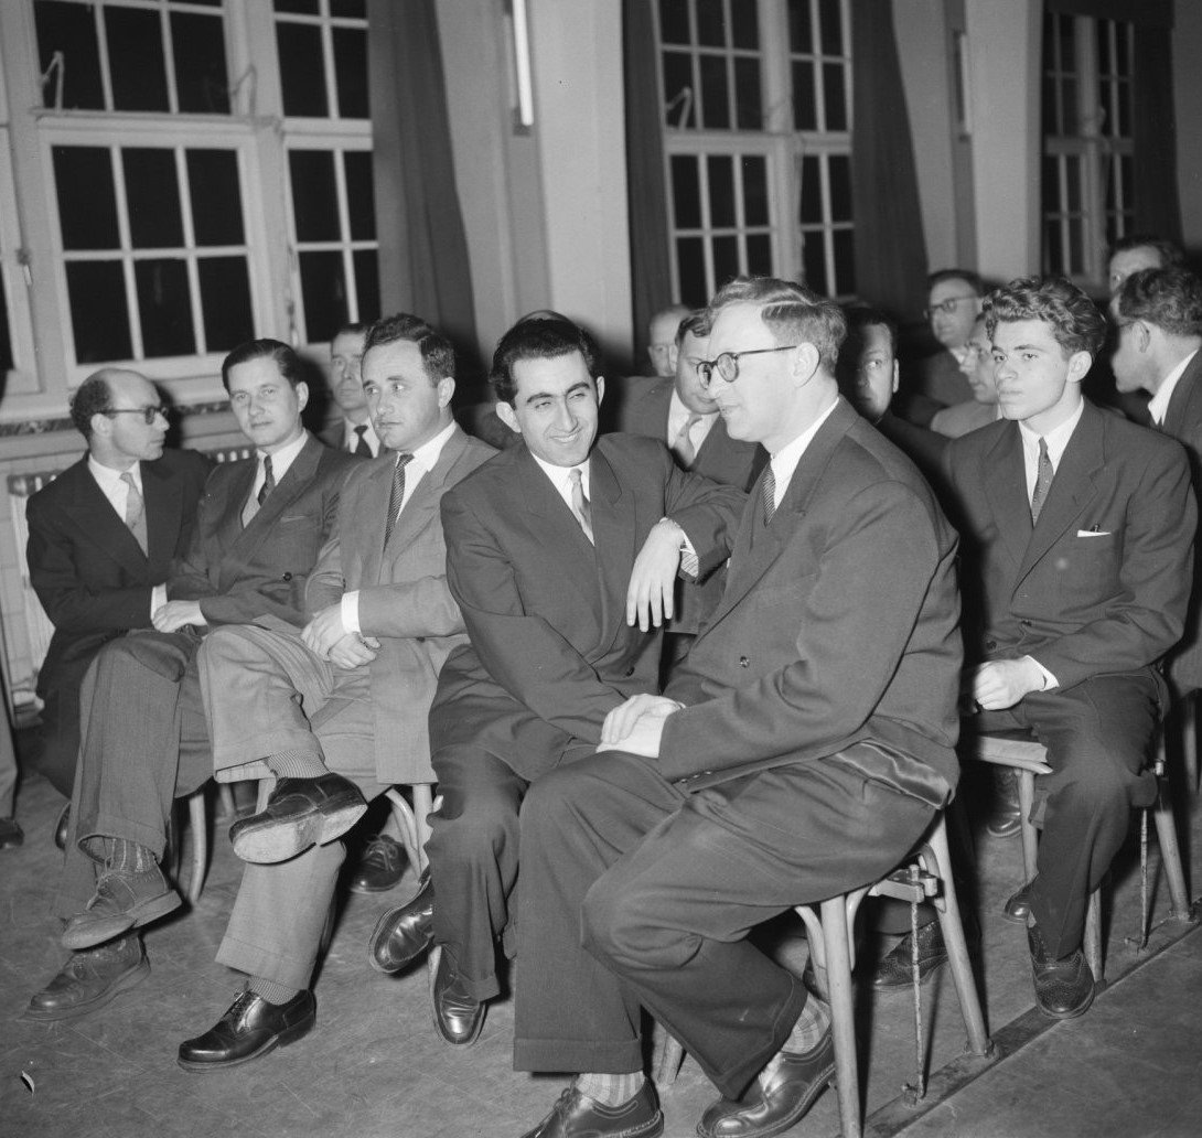
<svg viewBox="0 0 1202 1138"><path fill-rule="evenodd" d="M851 4L851 202L856 292L908 322L926 300L927 246L893 7Z"/></svg>

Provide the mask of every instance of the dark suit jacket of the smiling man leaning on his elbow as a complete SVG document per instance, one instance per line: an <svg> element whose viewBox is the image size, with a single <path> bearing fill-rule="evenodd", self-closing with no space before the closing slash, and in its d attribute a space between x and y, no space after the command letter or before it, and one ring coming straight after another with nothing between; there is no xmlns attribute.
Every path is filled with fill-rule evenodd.
<svg viewBox="0 0 1202 1138"><path fill-rule="evenodd" d="M447 582L471 643L439 677L435 756L471 745L532 780L590 753L613 708L657 689L661 636L626 625L635 556L671 516L714 568L745 495L632 435L602 435L589 477L595 548L524 443L444 495Z"/></svg>

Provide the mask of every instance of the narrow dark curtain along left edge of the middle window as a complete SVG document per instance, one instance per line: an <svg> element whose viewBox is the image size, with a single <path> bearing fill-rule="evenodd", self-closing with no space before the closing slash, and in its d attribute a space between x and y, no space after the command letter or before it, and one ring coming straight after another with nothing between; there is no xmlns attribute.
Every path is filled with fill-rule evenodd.
<svg viewBox="0 0 1202 1138"><path fill-rule="evenodd" d="M649 0L623 0L626 94L626 195L630 213L635 358L647 358L647 324L672 300L662 97L656 83L655 25Z"/></svg>

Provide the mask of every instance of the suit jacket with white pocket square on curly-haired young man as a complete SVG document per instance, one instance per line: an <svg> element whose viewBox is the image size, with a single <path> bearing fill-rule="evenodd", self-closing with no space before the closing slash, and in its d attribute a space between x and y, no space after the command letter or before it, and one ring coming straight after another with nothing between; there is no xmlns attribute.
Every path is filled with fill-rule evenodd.
<svg viewBox="0 0 1202 1138"><path fill-rule="evenodd" d="M1030 655L1071 687L1147 668L1180 638L1196 507L1177 442L1087 400L1034 529L1017 423L951 440L945 469L970 657Z"/></svg>

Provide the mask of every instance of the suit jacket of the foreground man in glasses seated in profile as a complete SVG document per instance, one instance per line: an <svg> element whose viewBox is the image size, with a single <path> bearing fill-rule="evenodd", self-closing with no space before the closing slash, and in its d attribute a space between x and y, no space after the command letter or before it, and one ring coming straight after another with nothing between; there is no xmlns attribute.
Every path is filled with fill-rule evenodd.
<svg viewBox="0 0 1202 1138"><path fill-rule="evenodd" d="M930 488L840 398L770 526L761 510L755 495L667 687L686 707L657 769L697 788L871 741L874 776L939 799L957 781L962 648L956 534Z"/></svg>

